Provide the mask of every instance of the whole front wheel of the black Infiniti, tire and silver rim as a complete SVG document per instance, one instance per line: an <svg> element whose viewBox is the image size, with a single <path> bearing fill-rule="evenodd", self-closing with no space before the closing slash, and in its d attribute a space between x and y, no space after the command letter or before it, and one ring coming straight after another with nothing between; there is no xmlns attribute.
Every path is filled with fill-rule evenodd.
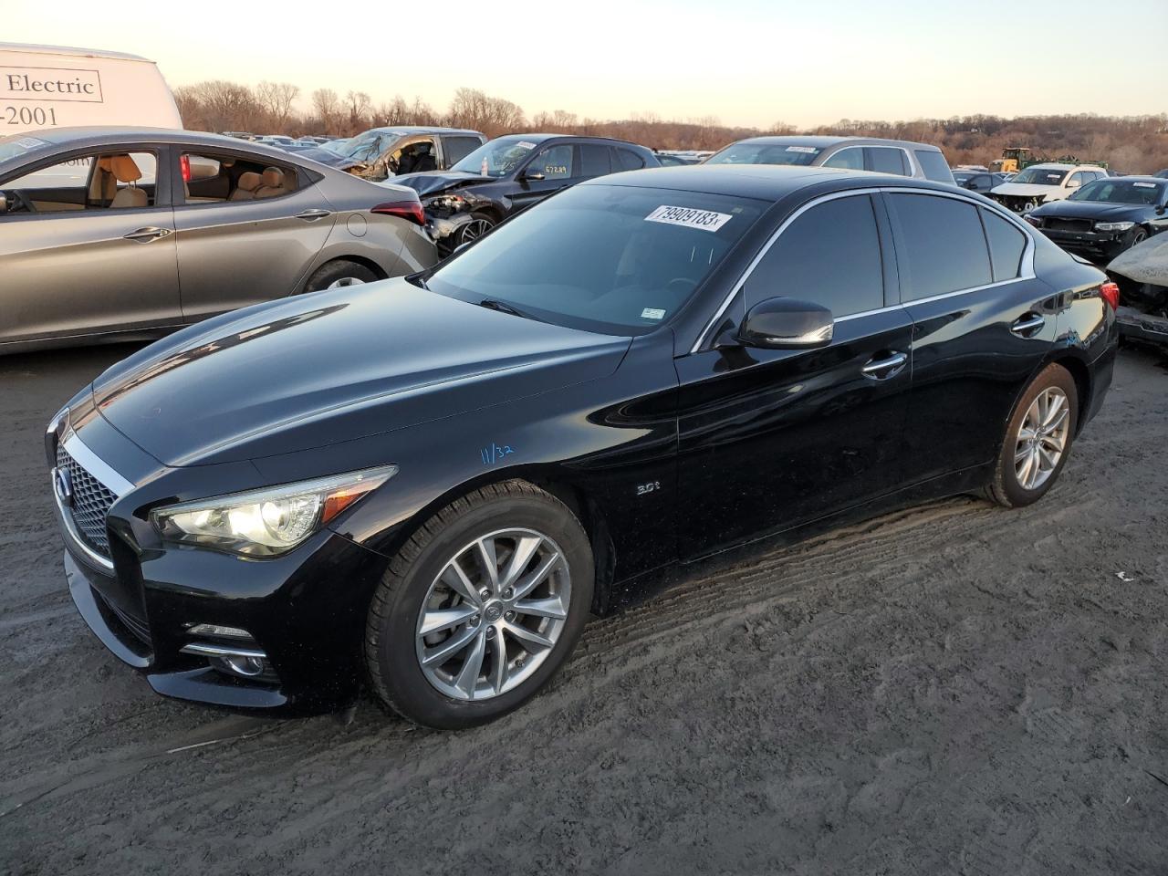
<svg viewBox="0 0 1168 876"><path fill-rule="evenodd" d="M528 555L521 545L530 548L536 537L538 547ZM494 545L495 588L486 576L480 540ZM523 565L509 578L517 551ZM464 572L457 588L447 583L459 582L453 563ZM545 568L550 570L540 578ZM536 578L528 592L520 592ZM457 499L413 533L374 592L364 638L373 693L406 721L439 730L514 711L575 648L592 604L593 578L584 528L538 487L512 480ZM486 599L477 595L484 586L491 591ZM528 614L533 607L545 613ZM554 617L557 612L563 617ZM431 626L423 635L424 619L444 626ZM424 666L426 660L436 662Z"/></svg>

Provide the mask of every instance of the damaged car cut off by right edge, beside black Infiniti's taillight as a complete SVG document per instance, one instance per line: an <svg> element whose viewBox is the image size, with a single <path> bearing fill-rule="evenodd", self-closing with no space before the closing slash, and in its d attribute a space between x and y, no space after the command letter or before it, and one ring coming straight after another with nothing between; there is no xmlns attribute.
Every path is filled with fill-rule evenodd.
<svg viewBox="0 0 1168 876"><path fill-rule="evenodd" d="M1119 286L1121 338L1168 347L1168 235L1145 241L1107 265Z"/></svg>

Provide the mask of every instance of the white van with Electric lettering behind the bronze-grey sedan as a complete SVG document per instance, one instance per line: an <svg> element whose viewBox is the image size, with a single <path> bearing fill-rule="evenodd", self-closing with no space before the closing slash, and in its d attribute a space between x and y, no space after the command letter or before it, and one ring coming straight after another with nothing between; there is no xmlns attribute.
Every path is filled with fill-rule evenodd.
<svg viewBox="0 0 1168 876"><path fill-rule="evenodd" d="M153 61L0 42L0 134L78 125L181 128L182 119Z"/></svg>

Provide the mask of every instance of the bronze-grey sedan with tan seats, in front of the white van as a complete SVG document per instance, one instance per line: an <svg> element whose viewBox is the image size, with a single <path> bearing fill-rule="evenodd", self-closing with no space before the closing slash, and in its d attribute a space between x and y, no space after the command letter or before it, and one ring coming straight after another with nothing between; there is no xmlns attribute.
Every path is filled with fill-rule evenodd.
<svg viewBox="0 0 1168 876"><path fill-rule="evenodd" d="M0 353L158 338L430 267L417 194L283 150L160 128L0 137Z"/></svg>

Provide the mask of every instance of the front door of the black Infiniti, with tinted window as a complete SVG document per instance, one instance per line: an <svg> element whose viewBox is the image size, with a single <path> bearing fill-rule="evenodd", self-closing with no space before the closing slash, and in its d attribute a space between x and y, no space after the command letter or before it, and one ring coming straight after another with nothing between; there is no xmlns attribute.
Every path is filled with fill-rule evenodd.
<svg viewBox="0 0 1168 876"><path fill-rule="evenodd" d="M680 550L693 558L897 488L912 382L912 322L895 297L867 194L798 215L731 307L783 296L828 307L815 349L723 346L676 360ZM890 293L885 296L885 287Z"/></svg>

